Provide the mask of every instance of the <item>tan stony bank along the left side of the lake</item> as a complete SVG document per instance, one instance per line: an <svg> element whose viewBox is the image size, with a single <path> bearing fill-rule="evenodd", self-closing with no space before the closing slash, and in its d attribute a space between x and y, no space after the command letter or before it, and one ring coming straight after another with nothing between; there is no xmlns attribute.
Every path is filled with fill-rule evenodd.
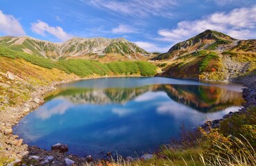
<svg viewBox="0 0 256 166"><path fill-rule="evenodd" d="M31 111L35 110L44 103L44 95L53 91L59 84L76 81L66 80L62 82L53 82L49 86L42 86L37 91L31 93L31 98L18 107L6 107L5 111L0 112L0 156L6 158L8 162L15 159L20 160L28 156L28 145L23 143L23 139L19 136L12 135L12 126L17 124L21 118L26 116ZM12 163L13 164L13 163Z"/></svg>

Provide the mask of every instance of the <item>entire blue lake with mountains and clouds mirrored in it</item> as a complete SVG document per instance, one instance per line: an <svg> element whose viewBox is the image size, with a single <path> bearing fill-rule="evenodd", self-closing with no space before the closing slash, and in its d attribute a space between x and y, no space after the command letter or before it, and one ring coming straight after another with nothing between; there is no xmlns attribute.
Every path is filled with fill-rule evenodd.
<svg viewBox="0 0 256 166"><path fill-rule="evenodd" d="M62 142L78 156L133 156L178 139L182 126L196 129L238 111L241 88L163 77L83 80L58 86L13 129L43 149Z"/></svg>

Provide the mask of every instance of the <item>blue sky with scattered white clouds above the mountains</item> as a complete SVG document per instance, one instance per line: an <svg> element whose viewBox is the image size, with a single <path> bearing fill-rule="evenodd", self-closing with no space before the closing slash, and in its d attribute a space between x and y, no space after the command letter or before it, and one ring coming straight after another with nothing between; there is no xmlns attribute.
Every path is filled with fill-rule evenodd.
<svg viewBox="0 0 256 166"><path fill-rule="evenodd" d="M164 53L207 29L256 39L256 0L0 0L0 36L124 37Z"/></svg>

